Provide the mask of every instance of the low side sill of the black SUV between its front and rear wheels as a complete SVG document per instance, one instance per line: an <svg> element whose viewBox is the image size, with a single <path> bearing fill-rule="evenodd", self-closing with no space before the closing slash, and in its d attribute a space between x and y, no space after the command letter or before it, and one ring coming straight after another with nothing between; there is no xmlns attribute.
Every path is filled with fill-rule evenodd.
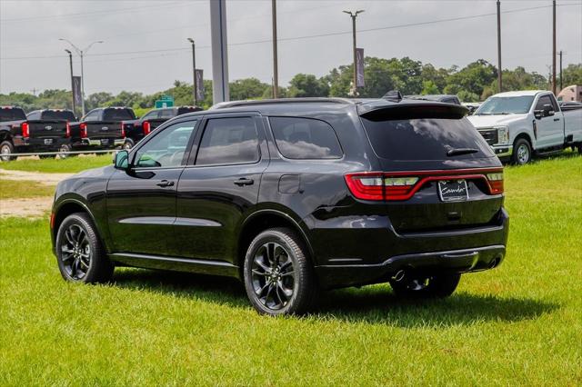
<svg viewBox="0 0 582 387"><path fill-rule="evenodd" d="M174 270L177 272L226 275L238 278L238 266L224 261L186 259L160 255L113 253L109 259L115 263L145 269Z"/></svg>

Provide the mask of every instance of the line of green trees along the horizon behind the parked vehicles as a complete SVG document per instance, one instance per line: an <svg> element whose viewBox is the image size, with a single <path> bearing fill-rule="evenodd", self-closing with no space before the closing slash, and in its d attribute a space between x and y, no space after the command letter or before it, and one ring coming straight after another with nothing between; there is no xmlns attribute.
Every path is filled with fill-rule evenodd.
<svg viewBox="0 0 582 387"><path fill-rule="evenodd" d="M367 56L365 64L365 86L358 89L360 97L375 98L389 90L402 94L457 94L463 102L478 102L496 94L497 68L486 60L479 59L463 68L437 68L431 64L408 57L401 59ZM582 64L567 65L563 71L562 84L582 84ZM286 87L279 87L280 97L335 96L349 97L353 79L353 65L340 65L321 77L314 74L296 74ZM559 79L559 78L558 78ZM205 80L206 98L199 102L204 108L212 105L212 81ZM271 84L256 78L244 78L231 82L230 99L260 99L272 95ZM524 67L503 70L504 91L549 89L549 76L528 73ZM131 106L141 115L152 108L162 95L174 97L176 105L193 104L192 84L175 81L174 85L155 94L122 91L119 94L99 92L89 94L85 100L88 111L101 106ZM17 105L25 111L44 108L72 107L71 93L67 90L45 90L34 95L26 93L0 94L1 105Z"/></svg>

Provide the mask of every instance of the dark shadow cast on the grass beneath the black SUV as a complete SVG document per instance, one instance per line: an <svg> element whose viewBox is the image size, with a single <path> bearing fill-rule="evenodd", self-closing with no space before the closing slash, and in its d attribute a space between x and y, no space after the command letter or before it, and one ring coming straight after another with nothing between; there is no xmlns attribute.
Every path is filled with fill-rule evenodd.
<svg viewBox="0 0 582 387"><path fill-rule="evenodd" d="M115 271L114 286L196 298L229 307L251 308L245 287L235 278L125 269ZM486 322L516 323L556 311L558 303L463 291L441 300L403 300L390 286L374 285L322 292L309 318L373 323L406 328L457 326Z"/></svg>

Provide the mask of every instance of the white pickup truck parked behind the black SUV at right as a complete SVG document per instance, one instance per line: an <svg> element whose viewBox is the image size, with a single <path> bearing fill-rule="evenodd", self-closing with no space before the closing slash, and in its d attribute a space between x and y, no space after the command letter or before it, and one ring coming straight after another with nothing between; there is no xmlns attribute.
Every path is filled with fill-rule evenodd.
<svg viewBox="0 0 582 387"><path fill-rule="evenodd" d="M563 112L548 91L495 94L467 118L504 161L527 164L568 147L582 153L582 109Z"/></svg>

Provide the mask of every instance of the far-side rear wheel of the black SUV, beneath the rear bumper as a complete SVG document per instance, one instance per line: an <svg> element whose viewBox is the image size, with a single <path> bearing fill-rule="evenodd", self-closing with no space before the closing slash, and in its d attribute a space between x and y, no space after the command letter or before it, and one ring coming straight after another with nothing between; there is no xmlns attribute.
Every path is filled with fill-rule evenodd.
<svg viewBox="0 0 582 387"><path fill-rule="evenodd" d="M438 274L404 278L400 282L390 280L390 286L398 297L405 298L445 298L455 292L461 274Z"/></svg>

